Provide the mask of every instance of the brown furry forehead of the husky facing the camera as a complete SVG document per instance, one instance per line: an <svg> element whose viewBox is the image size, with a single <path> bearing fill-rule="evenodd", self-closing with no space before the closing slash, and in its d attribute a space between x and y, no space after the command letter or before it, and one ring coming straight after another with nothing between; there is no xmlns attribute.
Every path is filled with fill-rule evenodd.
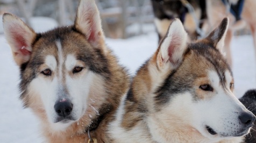
<svg viewBox="0 0 256 143"><path fill-rule="evenodd" d="M48 55L52 55L51 59L54 57L57 63L61 59L67 59L68 55L74 55L79 59L84 52L93 53L93 47L84 35L72 30L71 27L59 27L40 33L32 45L32 57L40 61L44 61Z"/></svg>

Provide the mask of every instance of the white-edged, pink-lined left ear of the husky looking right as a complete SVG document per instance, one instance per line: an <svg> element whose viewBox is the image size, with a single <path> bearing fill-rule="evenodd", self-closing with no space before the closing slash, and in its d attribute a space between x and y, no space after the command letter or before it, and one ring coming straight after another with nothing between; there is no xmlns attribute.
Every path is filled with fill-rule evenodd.
<svg viewBox="0 0 256 143"><path fill-rule="evenodd" d="M188 35L179 19L170 24L165 38L162 39L157 52L157 66L159 69L169 65L175 69L183 60L187 49Z"/></svg>

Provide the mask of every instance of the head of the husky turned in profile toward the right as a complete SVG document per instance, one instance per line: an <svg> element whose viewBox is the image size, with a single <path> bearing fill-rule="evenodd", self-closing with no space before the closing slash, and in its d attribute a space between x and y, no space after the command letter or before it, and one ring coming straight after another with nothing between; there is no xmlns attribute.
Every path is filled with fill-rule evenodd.
<svg viewBox="0 0 256 143"><path fill-rule="evenodd" d="M186 125L215 140L250 131L255 116L234 96L232 71L221 53L228 23L225 18L207 38L188 43L176 19L145 64L153 93L152 101L145 104L154 107L152 116L166 131Z"/></svg>

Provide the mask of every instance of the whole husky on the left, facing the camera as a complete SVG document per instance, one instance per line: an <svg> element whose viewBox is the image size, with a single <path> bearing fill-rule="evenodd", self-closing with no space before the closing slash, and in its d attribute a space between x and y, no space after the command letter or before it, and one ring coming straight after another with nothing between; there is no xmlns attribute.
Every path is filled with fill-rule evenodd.
<svg viewBox="0 0 256 143"><path fill-rule="evenodd" d="M10 13L3 26L20 67L20 99L39 117L46 141L109 142L106 125L129 77L105 45L95 2L80 1L72 26L35 33Z"/></svg>

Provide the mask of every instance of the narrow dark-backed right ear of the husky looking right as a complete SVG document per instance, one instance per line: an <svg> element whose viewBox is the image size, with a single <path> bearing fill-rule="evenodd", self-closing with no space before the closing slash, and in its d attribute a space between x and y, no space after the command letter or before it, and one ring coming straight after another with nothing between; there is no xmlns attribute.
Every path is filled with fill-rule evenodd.
<svg viewBox="0 0 256 143"><path fill-rule="evenodd" d="M208 40L212 41L214 47L216 47L221 52L224 46L228 26L229 18L224 18L221 24L219 24L219 26L215 28L215 30L212 31L207 37Z"/></svg>

